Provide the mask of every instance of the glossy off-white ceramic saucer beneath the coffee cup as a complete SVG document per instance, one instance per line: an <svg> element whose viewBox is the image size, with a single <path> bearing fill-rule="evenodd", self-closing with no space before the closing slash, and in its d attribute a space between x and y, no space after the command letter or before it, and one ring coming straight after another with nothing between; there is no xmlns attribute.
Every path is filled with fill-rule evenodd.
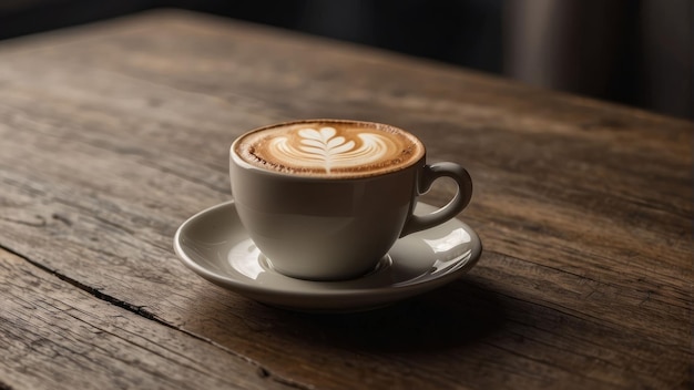
<svg viewBox="0 0 694 390"><path fill-rule="evenodd" d="M437 207L419 203L415 214ZM203 278L259 302L298 311L375 309L456 280L479 259L482 244L451 219L397 240L369 274L350 280L312 281L275 271L248 237L234 202L195 214L174 237L184 265Z"/></svg>

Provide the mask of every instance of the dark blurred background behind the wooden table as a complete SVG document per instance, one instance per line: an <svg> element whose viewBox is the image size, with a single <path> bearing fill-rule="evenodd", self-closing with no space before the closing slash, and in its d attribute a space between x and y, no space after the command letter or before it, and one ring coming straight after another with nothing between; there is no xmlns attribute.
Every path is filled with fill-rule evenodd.
<svg viewBox="0 0 694 390"><path fill-rule="evenodd" d="M693 119L691 0L0 0L0 39L182 8Z"/></svg>

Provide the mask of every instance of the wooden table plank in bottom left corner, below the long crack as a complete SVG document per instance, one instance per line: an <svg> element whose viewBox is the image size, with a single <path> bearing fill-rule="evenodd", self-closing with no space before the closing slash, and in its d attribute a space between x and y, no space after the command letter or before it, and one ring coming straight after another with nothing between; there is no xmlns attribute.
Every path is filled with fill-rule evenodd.
<svg viewBox="0 0 694 390"><path fill-rule="evenodd" d="M0 249L3 389L287 389L258 362ZM6 357L11 357L7 359Z"/></svg>

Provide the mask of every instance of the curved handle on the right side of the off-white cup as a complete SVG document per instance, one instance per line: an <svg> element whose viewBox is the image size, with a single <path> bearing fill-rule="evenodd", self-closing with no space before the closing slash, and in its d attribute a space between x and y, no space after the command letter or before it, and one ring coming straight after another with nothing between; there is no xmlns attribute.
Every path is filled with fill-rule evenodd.
<svg viewBox="0 0 694 390"><path fill-rule="evenodd" d="M405 223L405 227L402 228L402 233L400 233L400 237L440 225L453 218L470 203L470 198L472 197L472 179L468 171L456 163L425 165L417 181L418 195L427 193L431 184L439 177L450 177L456 181L458 184L456 196L453 196L446 206L427 215L419 216L411 214L415 209L412 207Z"/></svg>

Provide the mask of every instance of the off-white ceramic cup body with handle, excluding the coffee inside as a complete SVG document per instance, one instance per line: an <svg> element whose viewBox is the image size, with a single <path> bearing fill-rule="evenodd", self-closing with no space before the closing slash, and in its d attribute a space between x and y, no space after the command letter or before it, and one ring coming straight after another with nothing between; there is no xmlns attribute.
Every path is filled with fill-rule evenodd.
<svg viewBox="0 0 694 390"><path fill-rule="evenodd" d="M280 123L251 131L231 147L229 176L238 217L272 267L286 276L340 280L372 270L398 237L442 224L470 202L472 181L455 163L427 165L423 144L411 136L421 157L387 173L360 177L315 177L248 163L237 145L247 134L292 124L355 124L369 130L388 125L343 120ZM418 195L439 177L458 185L442 208L412 214Z"/></svg>

